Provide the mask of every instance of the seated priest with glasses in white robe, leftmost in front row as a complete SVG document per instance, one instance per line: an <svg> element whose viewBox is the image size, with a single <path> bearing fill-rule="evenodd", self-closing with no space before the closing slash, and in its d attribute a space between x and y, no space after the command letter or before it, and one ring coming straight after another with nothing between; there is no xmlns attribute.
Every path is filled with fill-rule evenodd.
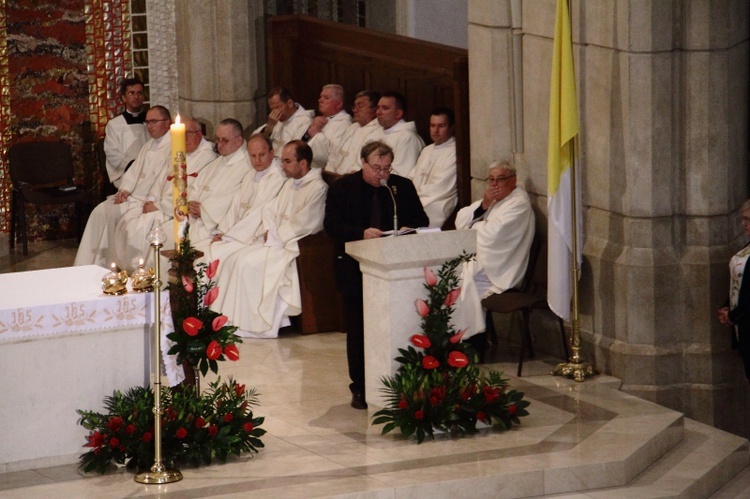
<svg viewBox="0 0 750 499"><path fill-rule="evenodd" d="M169 110L164 106L148 110L145 123L151 138L123 174L117 194L91 212L74 265L109 267L114 261L114 235L120 219L130 208L143 206L156 179L171 171L172 138L167 133L171 122Z"/></svg>

